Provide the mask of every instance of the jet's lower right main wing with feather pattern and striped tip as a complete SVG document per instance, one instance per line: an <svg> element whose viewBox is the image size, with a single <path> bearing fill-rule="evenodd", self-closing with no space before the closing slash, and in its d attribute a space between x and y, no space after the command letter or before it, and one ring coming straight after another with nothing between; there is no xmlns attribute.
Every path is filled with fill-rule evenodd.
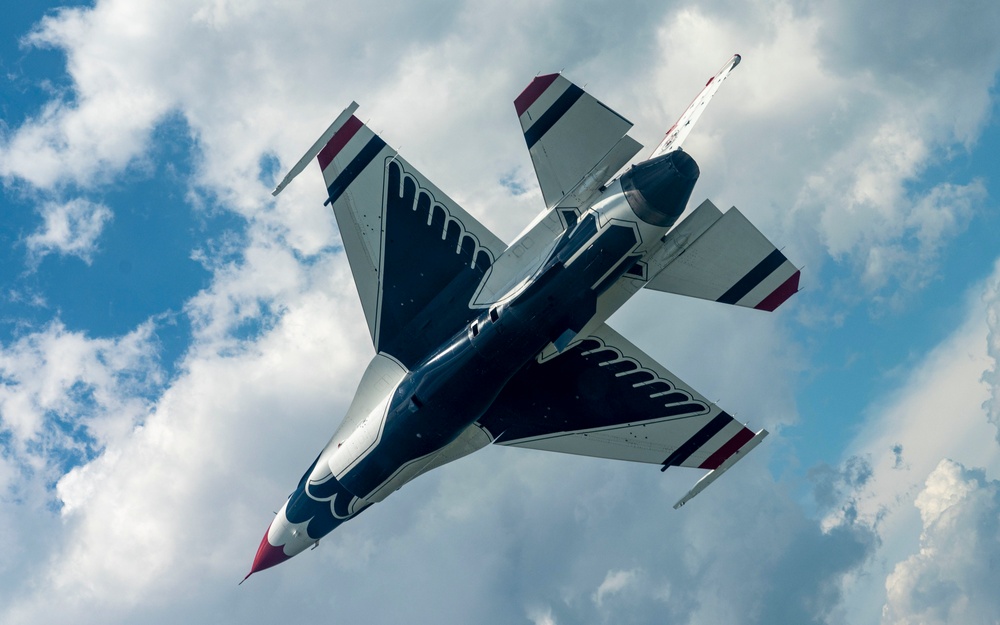
<svg viewBox="0 0 1000 625"><path fill-rule="evenodd" d="M526 365L479 424L501 445L664 469L718 469L755 436L607 325Z"/></svg>

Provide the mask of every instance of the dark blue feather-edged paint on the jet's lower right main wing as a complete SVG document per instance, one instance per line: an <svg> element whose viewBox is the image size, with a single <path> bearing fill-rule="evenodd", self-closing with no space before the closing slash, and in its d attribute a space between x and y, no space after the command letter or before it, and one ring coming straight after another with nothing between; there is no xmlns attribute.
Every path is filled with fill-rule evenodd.
<svg viewBox="0 0 1000 625"><path fill-rule="evenodd" d="M511 379L479 424L499 437L496 442L515 443L708 412L706 404L677 390L669 380L635 361L619 359L618 350L590 338L548 362L532 360Z"/></svg>

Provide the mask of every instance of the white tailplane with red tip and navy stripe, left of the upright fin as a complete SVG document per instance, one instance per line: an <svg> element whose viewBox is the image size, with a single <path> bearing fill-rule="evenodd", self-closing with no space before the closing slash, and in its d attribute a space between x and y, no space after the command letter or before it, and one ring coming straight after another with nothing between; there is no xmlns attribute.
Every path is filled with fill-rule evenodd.
<svg viewBox="0 0 1000 625"><path fill-rule="evenodd" d="M514 108L548 208L585 203L642 149L632 122L561 74L537 76Z"/></svg>

